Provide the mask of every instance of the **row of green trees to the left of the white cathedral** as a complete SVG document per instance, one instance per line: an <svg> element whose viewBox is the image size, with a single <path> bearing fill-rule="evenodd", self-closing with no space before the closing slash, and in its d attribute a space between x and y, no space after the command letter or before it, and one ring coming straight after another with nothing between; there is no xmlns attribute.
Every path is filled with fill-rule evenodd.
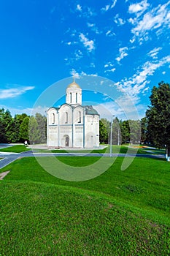
<svg viewBox="0 0 170 256"><path fill-rule="evenodd" d="M12 117L9 110L0 109L0 143L46 143L46 117L26 113Z"/></svg>

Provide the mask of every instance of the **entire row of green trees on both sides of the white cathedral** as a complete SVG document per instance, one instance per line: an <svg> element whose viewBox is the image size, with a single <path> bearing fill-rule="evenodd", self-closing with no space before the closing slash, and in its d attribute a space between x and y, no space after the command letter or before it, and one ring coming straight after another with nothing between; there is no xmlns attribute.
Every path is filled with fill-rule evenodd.
<svg viewBox="0 0 170 256"><path fill-rule="evenodd" d="M99 133L101 143L110 142L111 122L101 118ZM13 118L9 110L0 109L0 143L46 143L47 119L40 113ZM158 83L152 88L150 106L141 120L112 121L112 144L144 143L166 148L170 157L170 85Z"/></svg>

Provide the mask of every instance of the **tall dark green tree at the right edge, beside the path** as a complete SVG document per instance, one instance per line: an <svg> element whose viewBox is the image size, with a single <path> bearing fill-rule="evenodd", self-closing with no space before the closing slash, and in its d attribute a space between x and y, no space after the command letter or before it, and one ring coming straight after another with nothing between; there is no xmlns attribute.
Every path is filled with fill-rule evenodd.
<svg viewBox="0 0 170 256"><path fill-rule="evenodd" d="M170 157L170 85L158 83L152 88L150 108L146 112L147 130L153 143L158 148L166 147Z"/></svg>

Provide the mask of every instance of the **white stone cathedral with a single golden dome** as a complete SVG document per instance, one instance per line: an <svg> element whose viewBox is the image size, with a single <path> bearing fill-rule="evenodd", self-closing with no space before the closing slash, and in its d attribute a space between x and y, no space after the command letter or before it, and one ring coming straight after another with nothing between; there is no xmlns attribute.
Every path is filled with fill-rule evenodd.
<svg viewBox="0 0 170 256"><path fill-rule="evenodd" d="M66 103L47 110L47 146L99 146L99 115L92 106L82 106L82 89L74 81L66 88Z"/></svg>

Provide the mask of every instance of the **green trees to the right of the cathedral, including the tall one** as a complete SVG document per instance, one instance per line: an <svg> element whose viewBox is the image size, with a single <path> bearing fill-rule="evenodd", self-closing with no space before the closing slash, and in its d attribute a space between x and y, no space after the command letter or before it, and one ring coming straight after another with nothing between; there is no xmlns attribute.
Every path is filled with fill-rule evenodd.
<svg viewBox="0 0 170 256"><path fill-rule="evenodd" d="M109 141L111 123L100 120L100 141ZM150 106L141 120L112 122L112 144L144 143L156 148L166 148L166 158L170 160L170 85L158 83L150 95Z"/></svg>

